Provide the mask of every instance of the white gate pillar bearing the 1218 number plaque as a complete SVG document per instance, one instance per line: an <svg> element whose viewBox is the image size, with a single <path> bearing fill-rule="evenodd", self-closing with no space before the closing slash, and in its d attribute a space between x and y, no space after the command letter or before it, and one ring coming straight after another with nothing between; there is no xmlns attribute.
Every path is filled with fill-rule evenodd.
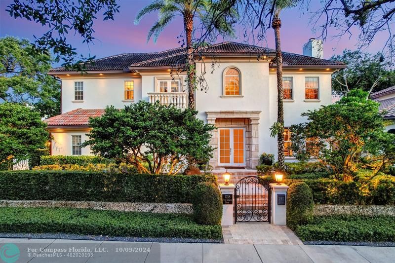
<svg viewBox="0 0 395 263"><path fill-rule="evenodd" d="M235 219L233 217L233 210L235 207L235 185L219 184L222 194L222 220L221 225L233 225Z"/></svg>

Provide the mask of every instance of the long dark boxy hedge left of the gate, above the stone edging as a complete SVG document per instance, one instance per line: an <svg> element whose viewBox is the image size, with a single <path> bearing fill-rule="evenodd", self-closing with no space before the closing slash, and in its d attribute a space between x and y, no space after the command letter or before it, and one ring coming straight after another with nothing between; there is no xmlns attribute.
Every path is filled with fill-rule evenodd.
<svg viewBox="0 0 395 263"><path fill-rule="evenodd" d="M152 175L80 171L0 171L0 199L191 203L198 183L213 175Z"/></svg>

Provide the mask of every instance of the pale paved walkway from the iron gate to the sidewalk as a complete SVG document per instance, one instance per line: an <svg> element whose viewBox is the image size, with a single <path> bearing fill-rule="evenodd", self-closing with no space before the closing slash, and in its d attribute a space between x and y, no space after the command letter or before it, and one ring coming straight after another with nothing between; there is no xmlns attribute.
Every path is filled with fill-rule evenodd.
<svg viewBox="0 0 395 263"><path fill-rule="evenodd" d="M302 245L302 241L285 225L237 223L222 226L226 244Z"/></svg>

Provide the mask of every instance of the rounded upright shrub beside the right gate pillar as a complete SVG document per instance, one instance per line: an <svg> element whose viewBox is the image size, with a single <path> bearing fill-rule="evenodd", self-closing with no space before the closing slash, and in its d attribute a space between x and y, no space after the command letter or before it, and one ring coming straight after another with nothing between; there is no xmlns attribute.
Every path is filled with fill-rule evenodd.
<svg viewBox="0 0 395 263"><path fill-rule="evenodd" d="M287 225L294 228L310 222L313 208L313 194L309 186L304 182L293 183L287 195Z"/></svg>

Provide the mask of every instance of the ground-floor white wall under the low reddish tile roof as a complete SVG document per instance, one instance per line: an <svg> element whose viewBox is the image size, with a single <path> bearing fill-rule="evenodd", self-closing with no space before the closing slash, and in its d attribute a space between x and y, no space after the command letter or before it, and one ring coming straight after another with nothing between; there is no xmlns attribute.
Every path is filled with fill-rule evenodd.
<svg viewBox="0 0 395 263"><path fill-rule="evenodd" d="M50 131L52 140L52 155L72 155L72 135L81 135L81 142L88 139L87 131ZM81 155L92 155L88 147L81 149Z"/></svg>

